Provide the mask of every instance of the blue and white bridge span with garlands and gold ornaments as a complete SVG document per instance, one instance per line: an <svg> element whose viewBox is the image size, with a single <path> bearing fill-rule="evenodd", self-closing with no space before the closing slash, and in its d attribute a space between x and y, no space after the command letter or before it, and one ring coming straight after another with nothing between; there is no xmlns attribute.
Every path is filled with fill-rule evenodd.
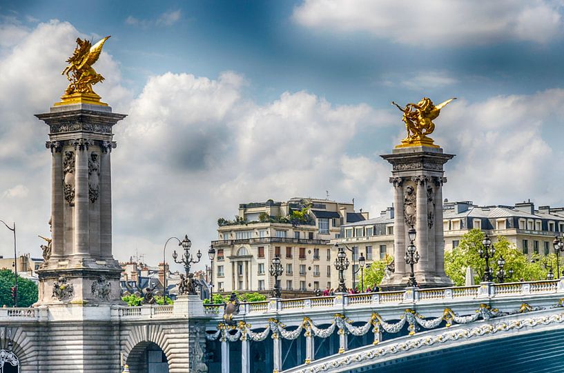
<svg viewBox="0 0 564 373"><path fill-rule="evenodd" d="M209 372L564 372L564 279L204 309Z"/></svg>

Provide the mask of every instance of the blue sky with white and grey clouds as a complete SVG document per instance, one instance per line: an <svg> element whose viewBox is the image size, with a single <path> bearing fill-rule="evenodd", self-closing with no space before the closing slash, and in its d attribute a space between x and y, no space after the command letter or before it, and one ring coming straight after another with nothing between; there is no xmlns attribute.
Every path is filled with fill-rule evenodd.
<svg viewBox="0 0 564 373"><path fill-rule="evenodd" d="M434 139L450 201L564 205L561 1L74 1L0 4L0 219L39 256L50 215L47 112L77 37L111 35L95 90L115 112L114 254L207 250L239 203L391 204L390 101L458 97ZM8 230L0 254L10 255ZM171 249L168 249L171 250ZM205 257L205 256L204 256Z"/></svg>

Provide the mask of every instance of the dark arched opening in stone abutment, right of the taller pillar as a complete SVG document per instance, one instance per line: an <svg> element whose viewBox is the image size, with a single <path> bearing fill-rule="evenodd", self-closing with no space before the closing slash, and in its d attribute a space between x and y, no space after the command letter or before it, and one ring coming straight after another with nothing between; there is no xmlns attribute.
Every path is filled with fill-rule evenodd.
<svg viewBox="0 0 564 373"><path fill-rule="evenodd" d="M131 373L168 373L168 359L159 345L144 341L137 343L126 360Z"/></svg>

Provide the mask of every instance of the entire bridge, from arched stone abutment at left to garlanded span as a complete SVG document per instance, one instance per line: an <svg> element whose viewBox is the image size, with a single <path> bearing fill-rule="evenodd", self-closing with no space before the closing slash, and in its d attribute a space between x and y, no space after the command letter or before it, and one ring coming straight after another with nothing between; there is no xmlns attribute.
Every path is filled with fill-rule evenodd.
<svg viewBox="0 0 564 373"><path fill-rule="evenodd" d="M242 303L232 325L222 305L191 296L174 305L2 308L0 347L21 372L402 372L429 359L449 372L459 366L445 364L459 362L443 354L464 350L495 365L509 345L538 354L552 346L547 339L561 341L563 298L564 279L271 299ZM541 356L552 366L554 354Z"/></svg>

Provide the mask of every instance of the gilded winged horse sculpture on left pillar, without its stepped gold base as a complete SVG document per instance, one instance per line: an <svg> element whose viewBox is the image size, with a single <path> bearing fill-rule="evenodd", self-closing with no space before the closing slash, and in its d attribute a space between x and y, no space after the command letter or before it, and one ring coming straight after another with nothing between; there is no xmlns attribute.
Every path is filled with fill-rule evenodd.
<svg viewBox="0 0 564 373"><path fill-rule="evenodd" d="M65 94L90 93L93 94L92 85L104 80L100 74L92 68L92 65L100 57L102 47L109 37L101 39L92 46L90 41L77 39L77 47L66 61L68 66L61 72L70 81Z"/></svg>

